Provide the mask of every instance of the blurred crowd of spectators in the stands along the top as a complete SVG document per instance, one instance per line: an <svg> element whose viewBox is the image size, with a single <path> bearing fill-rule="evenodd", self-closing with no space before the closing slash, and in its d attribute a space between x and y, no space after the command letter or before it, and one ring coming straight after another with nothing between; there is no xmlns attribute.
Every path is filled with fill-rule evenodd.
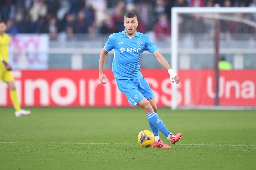
<svg viewBox="0 0 256 170"><path fill-rule="evenodd" d="M6 32L111 34L124 30L123 16L127 11L138 15L137 31L154 31L157 39L171 34L172 7L256 7L256 0L1 0L0 19L7 22ZM253 16L252 20L256 20ZM195 22L202 22L194 18ZM202 23L205 25L205 23ZM204 31L196 29L194 31Z"/></svg>

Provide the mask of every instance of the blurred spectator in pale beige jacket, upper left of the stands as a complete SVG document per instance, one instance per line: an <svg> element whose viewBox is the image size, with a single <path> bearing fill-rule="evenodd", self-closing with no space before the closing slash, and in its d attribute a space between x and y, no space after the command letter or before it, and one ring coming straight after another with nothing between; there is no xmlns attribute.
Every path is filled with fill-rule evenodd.
<svg viewBox="0 0 256 170"><path fill-rule="evenodd" d="M31 21L35 22L39 17L45 17L47 14L47 6L44 4L44 0L38 0L38 3L34 3L30 10Z"/></svg>

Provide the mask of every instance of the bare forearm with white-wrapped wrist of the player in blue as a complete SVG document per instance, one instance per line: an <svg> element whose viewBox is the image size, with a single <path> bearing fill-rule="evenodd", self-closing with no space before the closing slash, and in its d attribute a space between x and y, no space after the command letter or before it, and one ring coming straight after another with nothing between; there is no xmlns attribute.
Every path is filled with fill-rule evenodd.
<svg viewBox="0 0 256 170"><path fill-rule="evenodd" d="M173 71L173 69L171 69L170 64L166 61L164 56L159 51L154 52L153 56L168 71L172 82L174 83L175 81L176 84L179 84L180 83L179 76Z"/></svg>

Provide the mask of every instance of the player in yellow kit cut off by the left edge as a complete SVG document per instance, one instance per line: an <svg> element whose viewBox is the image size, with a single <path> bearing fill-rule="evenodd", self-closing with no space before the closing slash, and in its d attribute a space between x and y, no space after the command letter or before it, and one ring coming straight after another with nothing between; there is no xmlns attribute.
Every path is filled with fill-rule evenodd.
<svg viewBox="0 0 256 170"><path fill-rule="evenodd" d="M8 63L8 46L9 46L9 36L4 33L6 30L6 24L4 21L0 21L0 81L7 83L7 87L10 90L11 101L13 107L16 110L15 116L26 116L30 114L30 111L22 110L20 108L19 99L17 96L14 79L12 76L12 68Z"/></svg>

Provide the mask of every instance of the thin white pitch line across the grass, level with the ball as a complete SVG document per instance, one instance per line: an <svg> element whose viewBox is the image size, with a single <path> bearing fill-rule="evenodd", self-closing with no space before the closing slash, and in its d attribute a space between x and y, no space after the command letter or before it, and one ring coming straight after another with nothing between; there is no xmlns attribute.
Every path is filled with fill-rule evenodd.
<svg viewBox="0 0 256 170"><path fill-rule="evenodd" d="M6 144L124 144L124 145L134 145L134 143L75 143L75 142L0 142ZM250 144L183 144L179 143L177 145L189 145L189 146L256 146Z"/></svg>

